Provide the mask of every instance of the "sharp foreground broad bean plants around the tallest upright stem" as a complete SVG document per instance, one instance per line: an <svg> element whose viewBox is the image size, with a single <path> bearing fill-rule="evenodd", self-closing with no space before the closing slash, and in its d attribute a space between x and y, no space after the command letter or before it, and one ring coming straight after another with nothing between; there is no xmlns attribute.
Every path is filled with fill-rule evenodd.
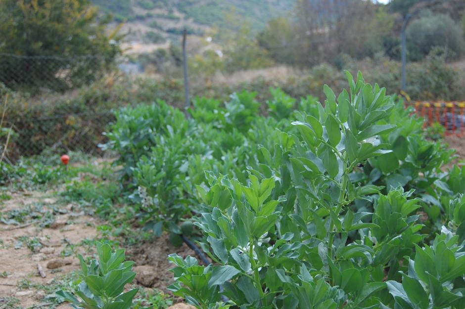
<svg viewBox="0 0 465 309"><path fill-rule="evenodd" d="M390 139L394 101L346 74L348 90L325 86L324 105L256 141L245 177L206 173L195 185L199 245L214 263L170 255L176 296L198 309L464 308L465 204L437 177L445 159L421 138ZM402 171L391 161L415 171L412 185L392 179ZM450 192L428 235L429 188Z"/></svg>

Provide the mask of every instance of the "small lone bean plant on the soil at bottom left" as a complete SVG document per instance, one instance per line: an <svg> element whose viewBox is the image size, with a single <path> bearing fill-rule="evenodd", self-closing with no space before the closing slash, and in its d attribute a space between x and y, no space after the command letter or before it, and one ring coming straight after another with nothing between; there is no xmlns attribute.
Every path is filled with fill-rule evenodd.
<svg viewBox="0 0 465 309"><path fill-rule="evenodd" d="M124 292L124 287L136 277L134 262L125 261L124 249L113 252L108 244L97 243L97 253L90 264L79 255L82 282L74 294L60 290L56 295L75 309L131 308L139 289Z"/></svg>

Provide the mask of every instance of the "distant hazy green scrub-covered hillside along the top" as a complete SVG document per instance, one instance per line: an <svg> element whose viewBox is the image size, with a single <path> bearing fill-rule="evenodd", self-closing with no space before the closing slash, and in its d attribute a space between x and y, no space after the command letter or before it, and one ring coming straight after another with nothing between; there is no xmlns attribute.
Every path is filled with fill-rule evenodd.
<svg viewBox="0 0 465 309"><path fill-rule="evenodd" d="M103 13L125 22L129 39L163 44L181 33L184 26L192 35L201 35L212 26L231 28L227 16L237 24L248 23L253 32L268 20L288 12L295 0L92 0Z"/></svg>

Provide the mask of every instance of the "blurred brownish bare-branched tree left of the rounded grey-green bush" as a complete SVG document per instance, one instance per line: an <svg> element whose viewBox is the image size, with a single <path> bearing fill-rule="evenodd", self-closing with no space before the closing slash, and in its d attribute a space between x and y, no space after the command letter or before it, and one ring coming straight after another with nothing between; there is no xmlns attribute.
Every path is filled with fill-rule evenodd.
<svg viewBox="0 0 465 309"><path fill-rule="evenodd" d="M313 66L382 51L393 24L391 14L371 1L298 0L293 18L270 21L259 42L280 62Z"/></svg>

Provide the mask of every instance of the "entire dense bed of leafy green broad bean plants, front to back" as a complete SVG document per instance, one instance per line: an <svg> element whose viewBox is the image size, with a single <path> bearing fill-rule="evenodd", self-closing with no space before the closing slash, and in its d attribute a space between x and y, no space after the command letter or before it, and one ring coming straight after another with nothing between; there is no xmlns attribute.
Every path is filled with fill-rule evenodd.
<svg viewBox="0 0 465 309"><path fill-rule="evenodd" d="M465 308L465 170L378 85L279 89L122 109L106 148L139 222L173 254L169 287L199 309ZM193 224L192 224L193 223Z"/></svg>

